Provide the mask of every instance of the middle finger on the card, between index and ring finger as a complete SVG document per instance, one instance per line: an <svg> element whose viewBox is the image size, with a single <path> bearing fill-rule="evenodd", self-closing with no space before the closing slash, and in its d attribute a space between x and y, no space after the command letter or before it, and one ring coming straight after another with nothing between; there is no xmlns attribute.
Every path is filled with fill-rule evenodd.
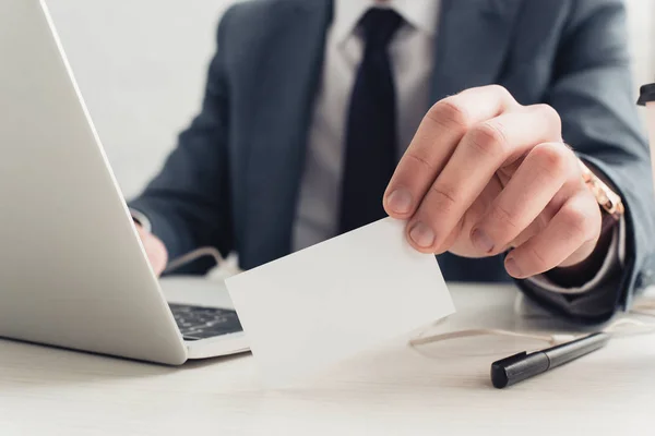
<svg viewBox="0 0 655 436"><path fill-rule="evenodd" d="M410 242L426 253L448 250L448 235L499 169L539 143L559 140L559 117L547 106L521 108L474 125L412 218Z"/></svg>

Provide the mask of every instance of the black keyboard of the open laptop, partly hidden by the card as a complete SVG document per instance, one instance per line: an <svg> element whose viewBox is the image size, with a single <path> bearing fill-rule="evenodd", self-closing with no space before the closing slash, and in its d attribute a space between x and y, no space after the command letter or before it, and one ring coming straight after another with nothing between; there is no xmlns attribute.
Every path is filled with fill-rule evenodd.
<svg viewBox="0 0 655 436"><path fill-rule="evenodd" d="M235 311L168 304L184 340L200 340L241 331Z"/></svg>

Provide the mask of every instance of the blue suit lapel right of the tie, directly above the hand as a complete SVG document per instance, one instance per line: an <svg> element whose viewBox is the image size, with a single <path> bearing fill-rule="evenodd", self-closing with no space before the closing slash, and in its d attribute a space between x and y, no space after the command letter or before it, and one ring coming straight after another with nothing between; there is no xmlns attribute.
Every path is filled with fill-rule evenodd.
<svg viewBox="0 0 655 436"><path fill-rule="evenodd" d="M432 100L496 83L523 0L442 0Z"/></svg>

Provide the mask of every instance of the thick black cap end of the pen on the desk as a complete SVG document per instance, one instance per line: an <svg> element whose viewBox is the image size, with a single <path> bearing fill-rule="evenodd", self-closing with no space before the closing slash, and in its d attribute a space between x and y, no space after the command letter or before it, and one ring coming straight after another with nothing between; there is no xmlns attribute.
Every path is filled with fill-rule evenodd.
<svg viewBox="0 0 655 436"><path fill-rule="evenodd" d="M491 383L502 389L548 371L550 362L544 353L527 354L525 351L491 364Z"/></svg>

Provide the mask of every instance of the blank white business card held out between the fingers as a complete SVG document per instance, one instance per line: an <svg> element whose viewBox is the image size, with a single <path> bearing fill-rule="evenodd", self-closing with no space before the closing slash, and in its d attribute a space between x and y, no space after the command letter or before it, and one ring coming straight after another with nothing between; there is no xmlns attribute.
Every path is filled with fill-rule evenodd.
<svg viewBox="0 0 655 436"><path fill-rule="evenodd" d="M227 279L254 359L282 386L454 312L433 255L385 218Z"/></svg>

